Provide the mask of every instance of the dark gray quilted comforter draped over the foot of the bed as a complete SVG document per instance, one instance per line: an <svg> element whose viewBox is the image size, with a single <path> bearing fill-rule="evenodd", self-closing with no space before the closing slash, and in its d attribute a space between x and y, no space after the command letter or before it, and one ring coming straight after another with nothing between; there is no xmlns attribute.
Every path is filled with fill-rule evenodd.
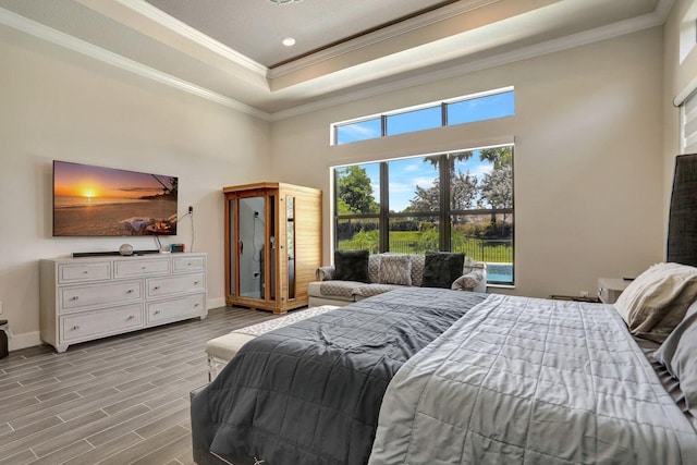
<svg viewBox="0 0 697 465"><path fill-rule="evenodd" d="M195 460L365 464L394 374L485 298L407 287L248 342L192 400Z"/></svg>

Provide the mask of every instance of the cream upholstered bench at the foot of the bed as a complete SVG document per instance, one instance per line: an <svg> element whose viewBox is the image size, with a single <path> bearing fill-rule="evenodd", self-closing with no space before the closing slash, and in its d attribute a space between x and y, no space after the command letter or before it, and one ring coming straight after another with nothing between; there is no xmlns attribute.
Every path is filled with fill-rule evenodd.
<svg viewBox="0 0 697 465"><path fill-rule="evenodd" d="M329 310L339 308L335 305L322 305L306 310L295 310L272 320L252 325L245 328L236 329L228 334L211 339L206 343L206 353L208 354L208 380L218 376L221 365L227 364L234 357L240 348L257 335L274 329L283 328L296 321L302 321L316 315L321 315Z"/></svg>

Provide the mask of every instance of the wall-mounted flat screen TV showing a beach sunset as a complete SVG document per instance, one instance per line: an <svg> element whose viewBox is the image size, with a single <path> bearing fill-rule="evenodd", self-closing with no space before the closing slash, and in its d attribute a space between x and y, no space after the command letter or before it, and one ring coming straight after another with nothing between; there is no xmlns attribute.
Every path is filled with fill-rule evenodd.
<svg viewBox="0 0 697 465"><path fill-rule="evenodd" d="M179 179L53 161L53 235L176 234Z"/></svg>

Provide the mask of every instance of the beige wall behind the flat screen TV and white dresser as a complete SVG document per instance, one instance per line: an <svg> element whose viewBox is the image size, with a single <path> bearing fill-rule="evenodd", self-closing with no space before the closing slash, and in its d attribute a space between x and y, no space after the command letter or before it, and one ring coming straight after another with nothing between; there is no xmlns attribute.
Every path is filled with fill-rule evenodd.
<svg viewBox="0 0 697 465"><path fill-rule="evenodd" d="M0 37L0 301L15 338L38 344L38 259L117 250L152 238L52 237L52 160L180 178L180 216L194 207L208 253L209 303L224 305L221 187L265 179L269 124L21 34ZM191 246L191 222L163 243Z"/></svg>

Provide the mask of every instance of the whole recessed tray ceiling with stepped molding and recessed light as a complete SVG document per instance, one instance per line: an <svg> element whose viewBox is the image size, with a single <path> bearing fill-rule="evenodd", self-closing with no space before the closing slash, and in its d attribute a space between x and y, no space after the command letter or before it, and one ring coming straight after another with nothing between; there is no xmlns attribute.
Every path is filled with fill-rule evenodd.
<svg viewBox="0 0 697 465"><path fill-rule="evenodd" d="M673 2L0 0L0 36L273 120L653 27Z"/></svg>

